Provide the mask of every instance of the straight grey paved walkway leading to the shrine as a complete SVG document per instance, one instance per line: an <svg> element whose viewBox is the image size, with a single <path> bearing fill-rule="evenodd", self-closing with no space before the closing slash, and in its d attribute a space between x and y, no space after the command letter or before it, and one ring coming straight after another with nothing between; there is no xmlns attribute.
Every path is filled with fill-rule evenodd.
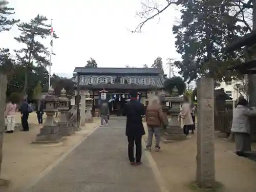
<svg viewBox="0 0 256 192"><path fill-rule="evenodd" d="M131 167L127 158L125 119L112 119L84 140L29 192L159 192L145 156Z"/></svg>

